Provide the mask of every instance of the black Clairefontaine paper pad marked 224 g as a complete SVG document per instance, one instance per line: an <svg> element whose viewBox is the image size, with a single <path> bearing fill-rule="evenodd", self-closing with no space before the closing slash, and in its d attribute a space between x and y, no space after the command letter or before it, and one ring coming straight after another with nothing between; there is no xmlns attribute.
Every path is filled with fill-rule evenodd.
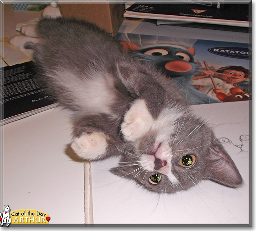
<svg viewBox="0 0 256 231"><path fill-rule="evenodd" d="M206 2L206 1L204 1ZM244 1L245 2L245 1ZM167 20L169 23L206 23L249 27L249 1L218 4L132 4L125 17ZM167 23L167 22L165 22Z"/></svg>

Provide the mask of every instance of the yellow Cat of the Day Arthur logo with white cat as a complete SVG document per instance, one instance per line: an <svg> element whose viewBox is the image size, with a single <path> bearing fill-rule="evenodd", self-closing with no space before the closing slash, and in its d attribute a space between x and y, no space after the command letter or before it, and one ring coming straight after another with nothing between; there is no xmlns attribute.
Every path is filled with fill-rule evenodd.
<svg viewBox="0 0 256 231"><path fill-rule="evenodd" d="M50 216L48 213L35 209L19 209L11 211L9 205L4 206L3 215L0 213L1 226L9 224L48 224Z"/></svg>

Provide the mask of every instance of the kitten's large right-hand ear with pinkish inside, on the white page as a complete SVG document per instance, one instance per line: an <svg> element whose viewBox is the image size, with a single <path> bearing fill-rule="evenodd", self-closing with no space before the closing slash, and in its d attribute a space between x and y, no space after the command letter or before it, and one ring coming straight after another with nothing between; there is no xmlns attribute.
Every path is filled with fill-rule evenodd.
<svg viewBox="0 0 256 231"><path fill-rule="evenodd" d="M240 186L243 179L222 144L217 140L213 141L209 146L209 151L210 160L205 178L228 187Z"/></svg>

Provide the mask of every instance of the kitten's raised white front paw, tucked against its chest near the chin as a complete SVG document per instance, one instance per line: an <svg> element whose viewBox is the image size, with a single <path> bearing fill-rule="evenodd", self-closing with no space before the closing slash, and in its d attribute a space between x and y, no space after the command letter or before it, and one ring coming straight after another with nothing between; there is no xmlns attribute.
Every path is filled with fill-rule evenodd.
<svg viewBox="0 0 256 231"><path fill-rule="evenodd" d="M149 131L153 122L145 100L137 99L124 115L121 131L126 140L135 141Z"/></svg>

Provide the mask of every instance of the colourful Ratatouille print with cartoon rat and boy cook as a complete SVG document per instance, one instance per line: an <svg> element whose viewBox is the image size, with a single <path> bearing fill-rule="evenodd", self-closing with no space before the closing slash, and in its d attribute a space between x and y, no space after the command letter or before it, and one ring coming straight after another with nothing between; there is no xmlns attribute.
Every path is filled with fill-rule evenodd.
<svg viewBox="0 0 256 231"><path fill-rule="evenodd" d="M117 39L135 58L178 83L192 104L252 98L249 44L132 33L119 33Z"/></svg>

